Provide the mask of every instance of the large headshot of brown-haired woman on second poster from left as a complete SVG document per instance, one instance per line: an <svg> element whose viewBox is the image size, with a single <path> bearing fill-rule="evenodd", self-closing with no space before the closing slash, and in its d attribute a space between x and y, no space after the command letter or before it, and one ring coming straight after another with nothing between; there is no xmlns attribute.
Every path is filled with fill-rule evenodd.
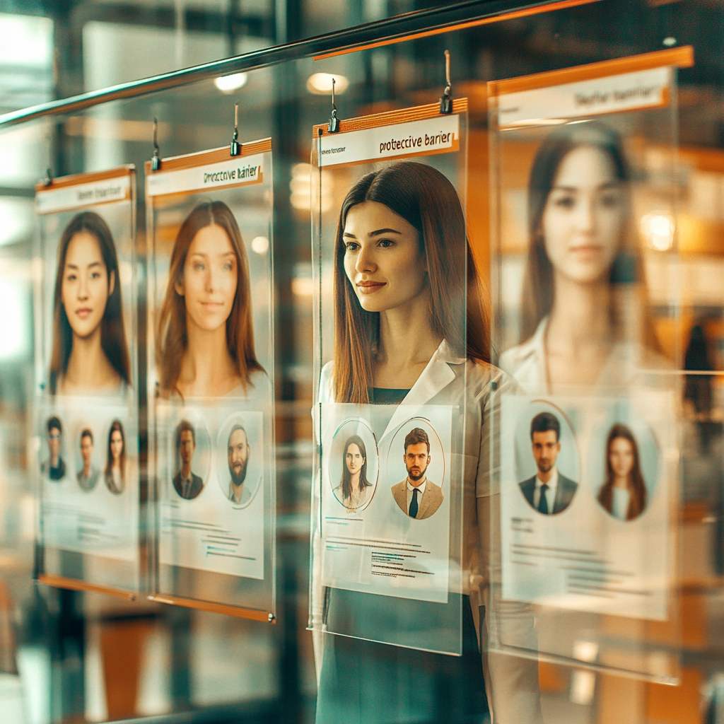
<svg viewBox="0 0 724 724"><path fill-rule="evenodd" d="M245 395L264 374L254 350L249 264L231 209L198 203L174 240L158 323L162 397Z"/></svg>

